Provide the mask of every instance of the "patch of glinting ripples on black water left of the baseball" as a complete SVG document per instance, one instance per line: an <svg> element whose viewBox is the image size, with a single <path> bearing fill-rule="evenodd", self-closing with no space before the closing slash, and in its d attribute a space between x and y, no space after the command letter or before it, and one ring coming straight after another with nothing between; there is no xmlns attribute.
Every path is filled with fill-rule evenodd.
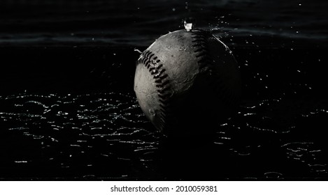
<svg viewBox="0 0 328 195"><path fill-rule="evenodd" d="M157 148L131 95L20 94L1 97L0 104L1 178L83 177L91 170L97 177L133 178L131 164L147 166Z"/></svg>

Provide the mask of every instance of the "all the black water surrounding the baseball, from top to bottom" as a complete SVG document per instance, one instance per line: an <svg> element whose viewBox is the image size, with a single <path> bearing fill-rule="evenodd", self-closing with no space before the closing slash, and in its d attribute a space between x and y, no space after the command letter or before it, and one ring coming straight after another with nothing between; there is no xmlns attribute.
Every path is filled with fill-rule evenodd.
<svg viewBox="0 0 328 195"><path fill-rule="evenodd" d="M327 180L326 1L33 2L0 3L2 180ZM232 50L243 100L170 146L134 68L186 18Z"/></svg>

